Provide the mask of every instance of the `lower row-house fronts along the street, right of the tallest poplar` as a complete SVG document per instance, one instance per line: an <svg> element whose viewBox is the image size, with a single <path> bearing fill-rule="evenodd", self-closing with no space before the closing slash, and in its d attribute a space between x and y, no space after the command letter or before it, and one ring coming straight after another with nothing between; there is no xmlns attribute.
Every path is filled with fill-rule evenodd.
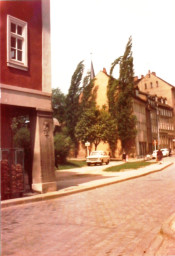
<svg viewBox="0 0 175 256"><path fill-rule="evenodd" d="M136 90L133 110L137 117L137 156L150 154L158 148L174 149L174 114L166 98Z"/></svg>

